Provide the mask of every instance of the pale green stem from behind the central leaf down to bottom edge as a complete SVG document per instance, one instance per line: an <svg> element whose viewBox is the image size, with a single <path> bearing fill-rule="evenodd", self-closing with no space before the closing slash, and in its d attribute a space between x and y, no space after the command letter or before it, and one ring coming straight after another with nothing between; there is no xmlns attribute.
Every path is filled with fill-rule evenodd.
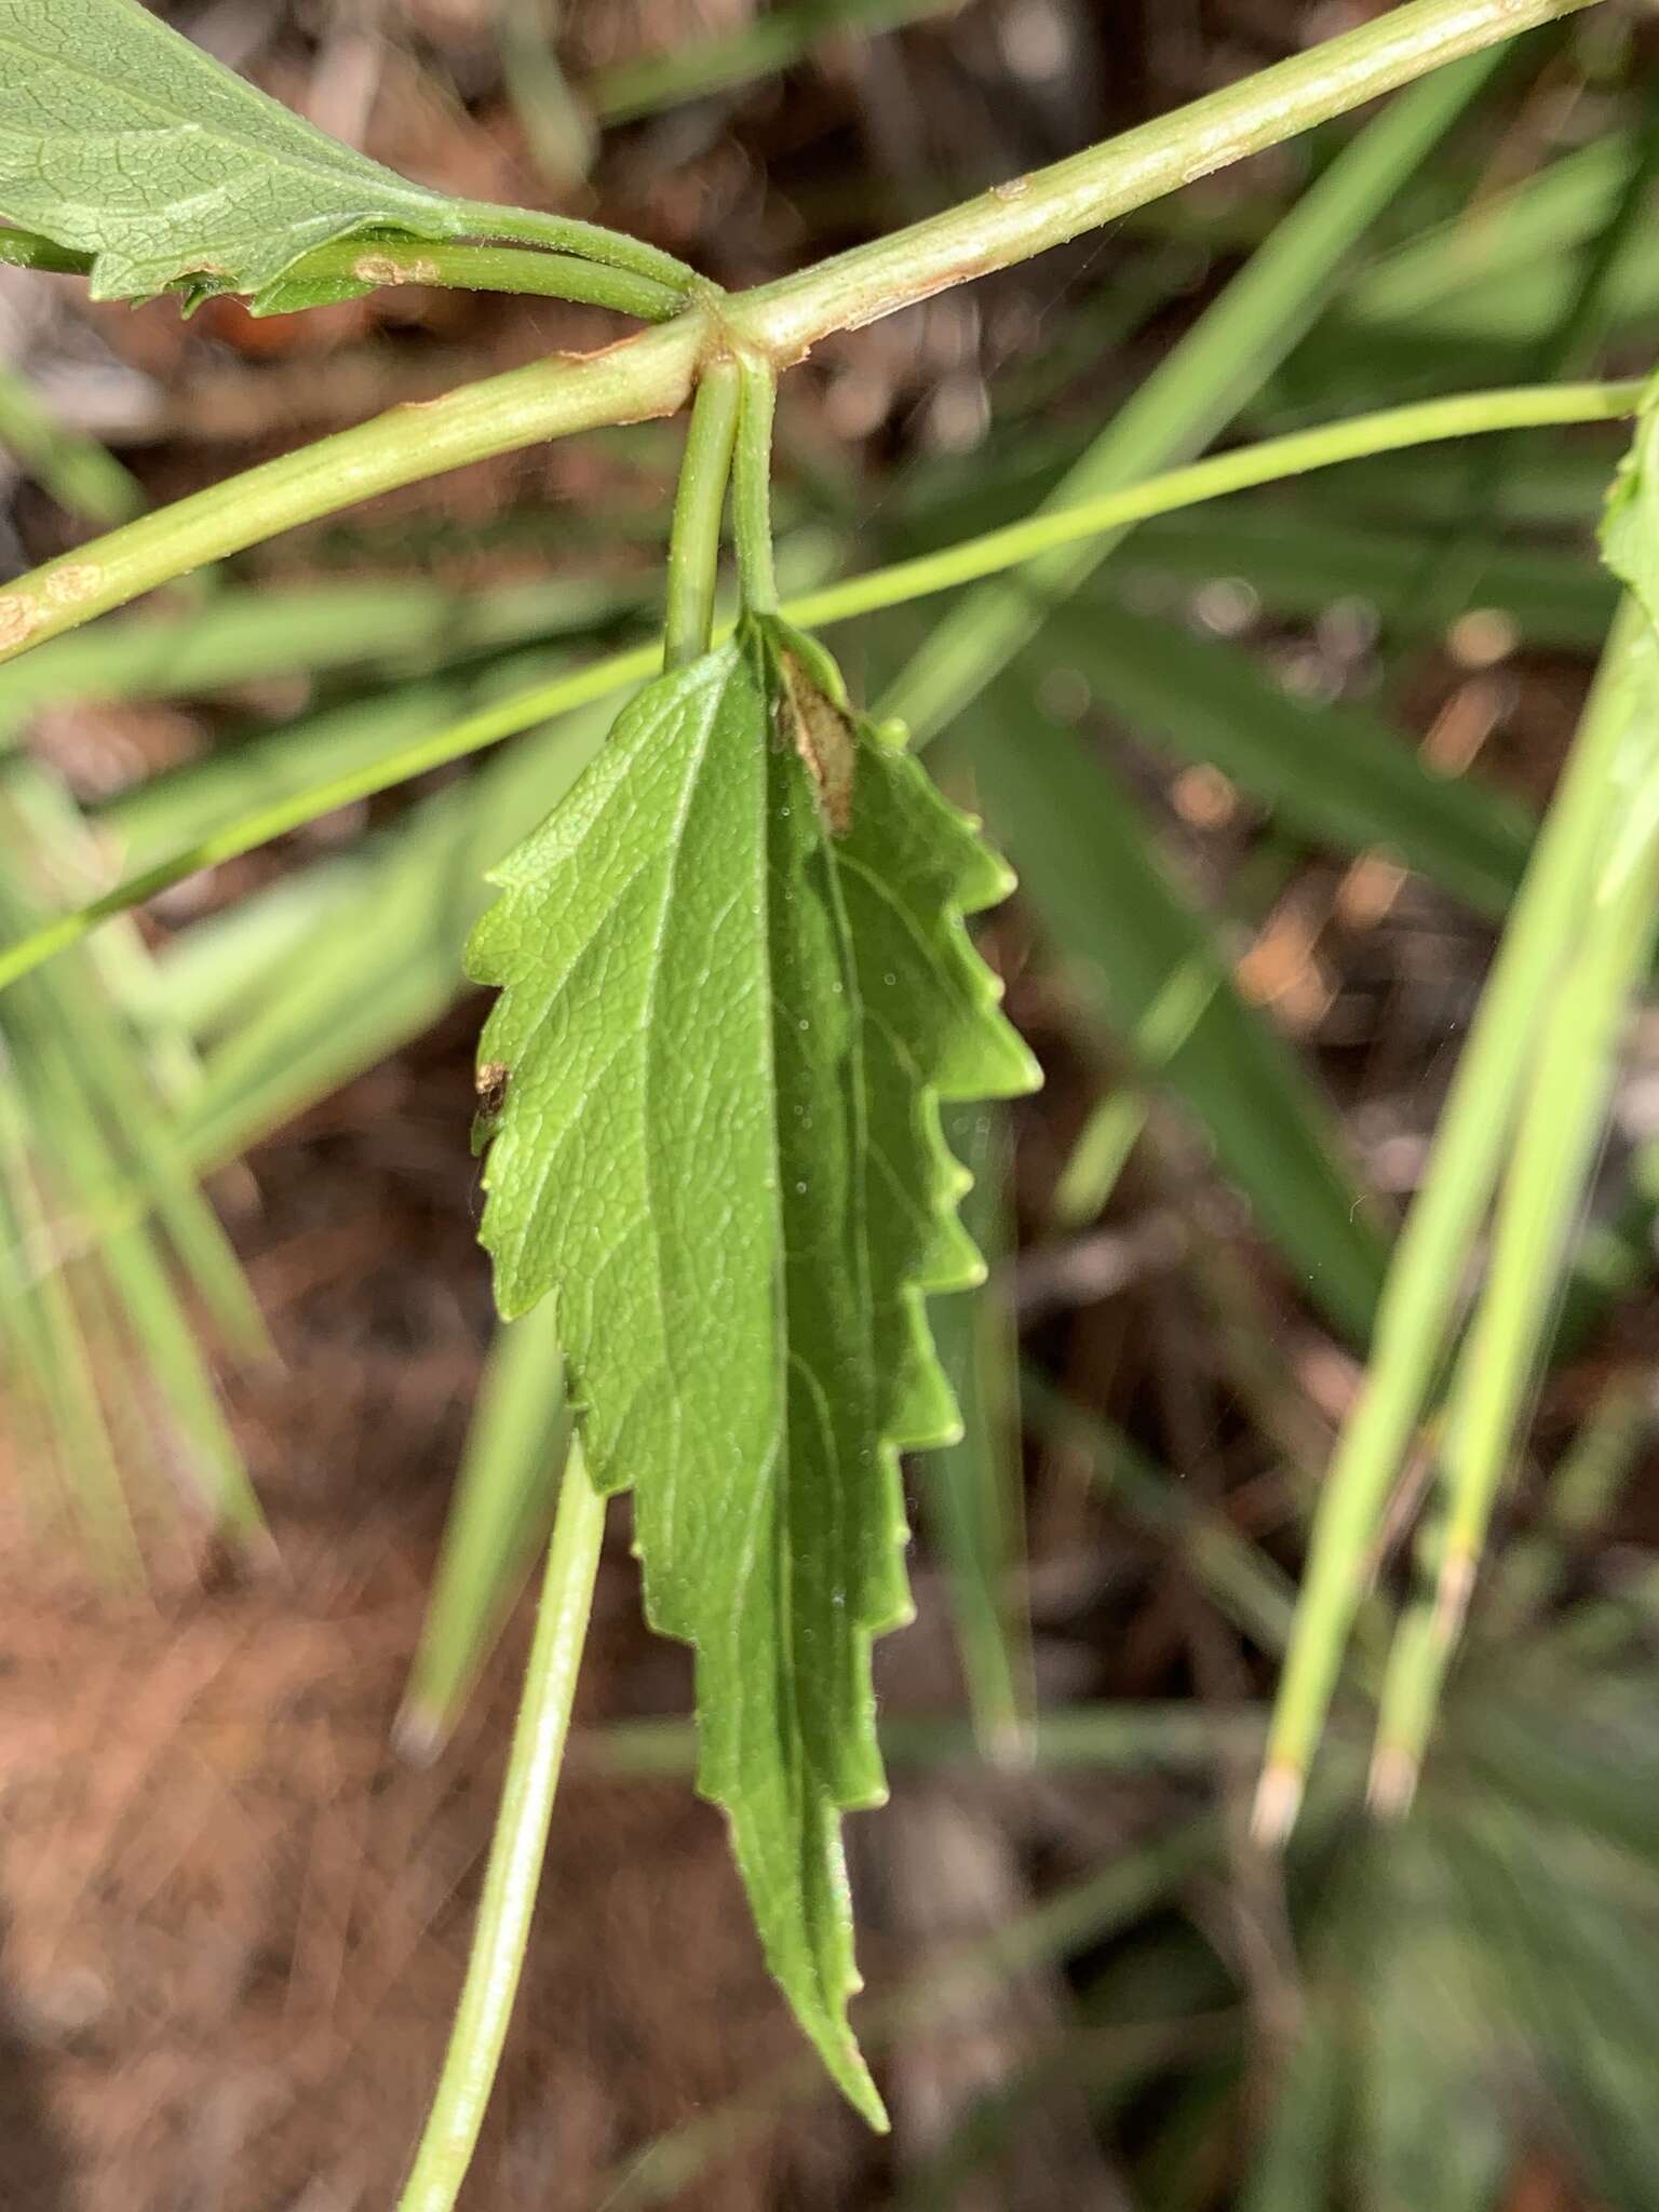
<svg viewBox="0 0 1659 2212"><path fill-rule="evenodd" d="M602 1542L604 1498L588 1480L582 1447L573 1444L546 1553L542 1608L513 1728L502 1809L489 1845L467 1984L398 2212L449 2212L478 2143L542 1880Z"/></svg>

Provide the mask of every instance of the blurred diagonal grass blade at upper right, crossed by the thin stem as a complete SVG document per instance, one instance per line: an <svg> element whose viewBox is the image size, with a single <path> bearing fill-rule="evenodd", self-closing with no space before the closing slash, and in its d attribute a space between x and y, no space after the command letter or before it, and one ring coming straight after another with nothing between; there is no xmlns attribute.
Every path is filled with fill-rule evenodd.
<svg viewBox="0 0 1659 2212"><path fill-rule="evenodd" d="M1495 66L1495 53L1486 53L1438 69L1367 124L1119 407L1044 509L1119 491L1225 429L1312 325L1356 239L1387 212ZM971 591L933 626L883 712L900 714L920 737L949 723L1121 538L1093 538L1033 562L1009 584Z"/></svg>

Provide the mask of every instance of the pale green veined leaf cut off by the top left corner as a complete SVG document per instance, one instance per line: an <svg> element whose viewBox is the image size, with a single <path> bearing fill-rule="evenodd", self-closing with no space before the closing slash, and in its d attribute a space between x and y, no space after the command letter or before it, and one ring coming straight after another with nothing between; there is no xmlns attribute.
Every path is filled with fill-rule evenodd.
<svg viewBox="0 0 1659 2212"><path fill-rule="evenodd" d="M453 201L314 131L139 0L0 0L0 215L91 252L95 299L199 279L257 307L294 305L272 288L334 239L465 230Z"/></svg>

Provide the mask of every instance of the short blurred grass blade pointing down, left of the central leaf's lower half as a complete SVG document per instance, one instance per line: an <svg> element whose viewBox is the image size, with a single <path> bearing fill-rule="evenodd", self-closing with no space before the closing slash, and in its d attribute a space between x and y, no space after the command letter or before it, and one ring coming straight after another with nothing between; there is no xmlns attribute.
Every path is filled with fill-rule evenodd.
<svg viewBox="0 0 1659 2212"><path fill-rule="evenodd" d="M394 1741L436 1759L553 1526L571 1436L555 1298L502 1321L456 1473L438 1573ZM577 1480L582 1480L577 1471Z"/></svg>

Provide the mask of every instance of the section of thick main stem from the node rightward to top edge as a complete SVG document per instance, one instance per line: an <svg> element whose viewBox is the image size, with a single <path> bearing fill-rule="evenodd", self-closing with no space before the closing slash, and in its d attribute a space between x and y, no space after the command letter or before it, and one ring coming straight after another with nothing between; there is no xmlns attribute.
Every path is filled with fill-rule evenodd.
<svg viewBox="0 0 1659 2212"><path fill-rule="evenodd" d="M856 246L799 276L745 292L732 325L779 363L834 330L860 330L898 307L1095 230L1164 192L1210 177L1345 115L1378 93L1480 53L1595 0L1416 0L1274 69L1256 71L1172 115L991 186L978 199Z"/></svg>

